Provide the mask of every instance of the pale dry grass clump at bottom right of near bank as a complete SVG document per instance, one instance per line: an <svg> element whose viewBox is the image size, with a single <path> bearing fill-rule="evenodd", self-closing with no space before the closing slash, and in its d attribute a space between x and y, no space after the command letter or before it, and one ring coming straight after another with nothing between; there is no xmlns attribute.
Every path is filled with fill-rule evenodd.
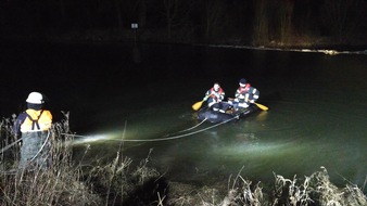
<svg viewBox="0 0 367 206"><path fill-rule="evenodd" d="M304 177L303 180L298 179L296 176L293 179L287 179L274 173L275 183L271 191L263 191L261 182L253 185L250 180L244 179L240 173L241 171L233 180L231 177L229 178L228 193L223 201L218 201L219 194L214 192L213 189L195 189L194 195L180 198L181 205L190 205L188 203L202 206L367 205L367 198L359 188L350 183L342 189L336 186L330 182L325 167L309 177ZM212 191L211 197L207 195L207 191ZM201 203L198 204L198 198L194 196L200 196Z"/></svg>

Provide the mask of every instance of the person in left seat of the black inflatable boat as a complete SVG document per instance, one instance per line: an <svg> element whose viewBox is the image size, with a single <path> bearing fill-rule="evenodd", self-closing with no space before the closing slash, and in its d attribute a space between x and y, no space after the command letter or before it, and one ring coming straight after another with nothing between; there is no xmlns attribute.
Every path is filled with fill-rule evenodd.
<svg viewBox="0 0 367 206"><path fill-rule="evenodd" d="M218 82L215 82L213 88L206 91L203 101L207 101L207 106L215 112L225 113L223 108L223 100L225 99L225 91L222 89Z"/></svg>

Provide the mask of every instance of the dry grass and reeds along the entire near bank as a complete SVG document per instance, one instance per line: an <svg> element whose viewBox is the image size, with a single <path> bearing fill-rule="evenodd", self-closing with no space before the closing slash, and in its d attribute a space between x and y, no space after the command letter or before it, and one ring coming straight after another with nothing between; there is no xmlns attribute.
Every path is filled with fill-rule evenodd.
<svg viewBox="0 0 367 206"><path fill-rule="evenodd" d="M169 180L150 164L152 149L140 163L132 163L121 150L113 160L96 159L84 165L88 153L86 145L81 159L73 158L74 140L69 131L68 113L64 119L54 123L49 144L51 164L48 169L33 171L16 168L20 145L15 144L1 153L0 202L1 205L367 205L358 188L346 182L338 188L329 180L328 171L320 167L308 177L296 175L288 179L274 173L275 182L253 183L241 175L228 177L227 185L190 185ZM1 149L16 140L11 133L15 117L0 121Z"/></svg>

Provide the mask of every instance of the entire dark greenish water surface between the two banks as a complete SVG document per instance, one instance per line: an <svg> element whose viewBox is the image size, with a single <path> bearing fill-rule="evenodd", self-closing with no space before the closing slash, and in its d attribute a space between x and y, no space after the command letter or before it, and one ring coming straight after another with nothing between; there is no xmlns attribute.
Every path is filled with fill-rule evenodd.
<svg viewBox="0 0 367 206"><path fill-rule="evenodd" d="M148 156L173 181L199 184L242 177L274 181L325 166L332 182L363 186L367 176L367 55L193 46L1 44L1 115L18 113L30 91L45 92L55 120L90 144L87 158L115 157L119 146ZM240 78L269 107L205 128L191 105L214 81L233 96ZM188 133L203 131L189 136ZM125 132L124 132L125 131ZM178 132L178 133L176 133ZM180 134L187 134L179 138ZM154 142L121 142L177 137ZM366 189L365 189L366 190Z"/></svg>

